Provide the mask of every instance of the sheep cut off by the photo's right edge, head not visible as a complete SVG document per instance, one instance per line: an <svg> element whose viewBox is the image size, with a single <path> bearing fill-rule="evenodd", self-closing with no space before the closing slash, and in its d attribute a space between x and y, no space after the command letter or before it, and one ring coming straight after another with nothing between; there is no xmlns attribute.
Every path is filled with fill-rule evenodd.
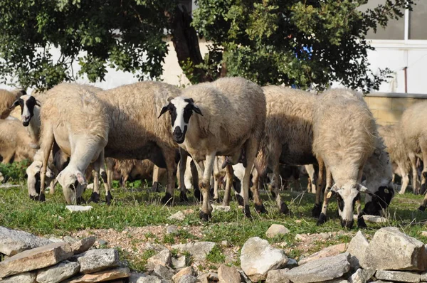
<svg viewBox="0 0 427 283"><path fill-rule="evenodd" d="M411 161L412 188L413 193L416 194L420 193L420 186L417 182L417 157L423 161L423 171L421 171L422 191L425 191L427 179L427 129L423 127L427 118L426 107L426 101L411 105L404 111L399 123L399 132L404 137L404 147L408 151L409 160ZM426 206L427 196L418 209L424 211Z"/></svg>

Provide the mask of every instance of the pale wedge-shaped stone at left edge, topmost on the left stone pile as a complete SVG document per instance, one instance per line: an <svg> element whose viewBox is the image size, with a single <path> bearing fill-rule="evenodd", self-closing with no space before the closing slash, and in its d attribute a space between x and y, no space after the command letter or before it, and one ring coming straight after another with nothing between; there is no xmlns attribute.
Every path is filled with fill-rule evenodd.
<svg viewBox="0 0 427 283"><path fill-rule="evenodd" d="M9 257L24 250L42 247L51 243L50 240L43 237L0 226L0 253L9 255Z"/></svg>

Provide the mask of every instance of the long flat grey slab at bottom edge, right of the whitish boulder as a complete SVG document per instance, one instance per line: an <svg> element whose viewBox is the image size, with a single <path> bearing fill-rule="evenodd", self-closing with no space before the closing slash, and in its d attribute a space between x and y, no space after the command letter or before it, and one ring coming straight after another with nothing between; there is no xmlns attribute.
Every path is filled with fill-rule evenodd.
<svg viewBox="0 0 427 283"><path fill-rule="evenodd" d="M289 279L293 283L327 282L327 280L337 279L349 272L349 258L350 254L345 252L334 257L312 260L284 272L283 279Z"/></svg>

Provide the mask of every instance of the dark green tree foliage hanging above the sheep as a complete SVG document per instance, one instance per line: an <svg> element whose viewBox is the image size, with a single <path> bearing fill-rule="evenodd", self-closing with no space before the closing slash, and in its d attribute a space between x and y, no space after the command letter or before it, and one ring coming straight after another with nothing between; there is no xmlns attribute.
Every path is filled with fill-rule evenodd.
<svg viewBox="0 0 427 283"><path fill-rule="evenodd" d="M75 61L77 75L90 81L102 80L109 66L158 78L169 31L191 82L241 75L260 85L321 89L338 81L366 92L387 74L369 70L367 31L413 4L386 0L359 11L367 1L198 0L192 20L177 0L2 0L0 82L12 76L23 87L52 87L75 79ZM196 31L212 43L204 58Z"/></svg>

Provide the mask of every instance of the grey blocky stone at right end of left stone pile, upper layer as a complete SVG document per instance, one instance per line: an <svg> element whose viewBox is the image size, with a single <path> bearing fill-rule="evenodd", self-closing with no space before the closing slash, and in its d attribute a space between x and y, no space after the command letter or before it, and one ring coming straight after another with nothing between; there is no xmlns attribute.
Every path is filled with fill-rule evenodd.
<svg viewBox="0 0 427 283"><path fill-rule="evenodd" d="M80 272L88 274L119 266L119 253L114 249L88 250L77 260L80 263Z"/></svg>

